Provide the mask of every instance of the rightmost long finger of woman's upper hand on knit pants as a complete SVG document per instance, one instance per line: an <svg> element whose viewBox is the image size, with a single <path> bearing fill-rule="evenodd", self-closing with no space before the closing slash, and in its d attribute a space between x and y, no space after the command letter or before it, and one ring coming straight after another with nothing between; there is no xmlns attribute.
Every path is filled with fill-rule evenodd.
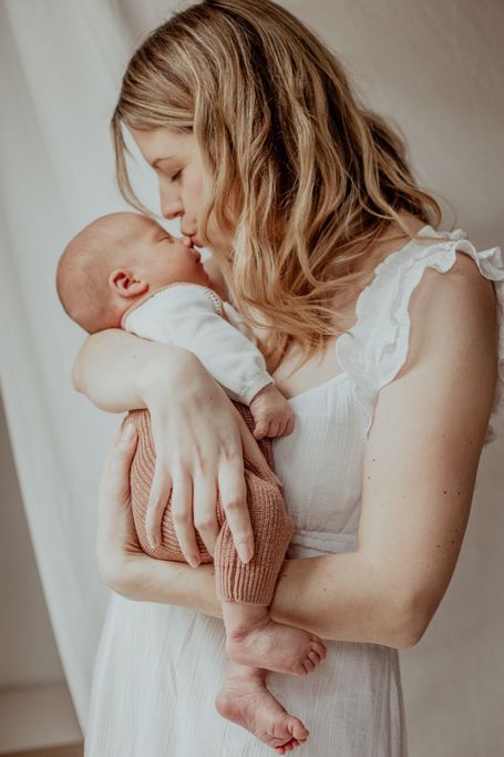
<svg viewBox="0 0 504 757"><path fill-rule="evenodd" d="M247 487L241 457L220 463L218 488L236 551L241 562L247 563L254 555L254 531L248 512Z"/></svg>

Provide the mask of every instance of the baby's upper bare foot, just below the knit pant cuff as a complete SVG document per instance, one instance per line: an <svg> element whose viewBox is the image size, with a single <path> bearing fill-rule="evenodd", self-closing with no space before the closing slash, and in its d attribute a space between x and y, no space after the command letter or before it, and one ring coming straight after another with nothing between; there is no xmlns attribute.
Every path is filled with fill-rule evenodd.
<svg viewBox="0 0 504 757"><path fill-rule="evenodd" d="M245 631L229 632L226 652L240 665L260 665L267 671L307 675L327 656L316 634L276 623L269 615Z"/></svg>

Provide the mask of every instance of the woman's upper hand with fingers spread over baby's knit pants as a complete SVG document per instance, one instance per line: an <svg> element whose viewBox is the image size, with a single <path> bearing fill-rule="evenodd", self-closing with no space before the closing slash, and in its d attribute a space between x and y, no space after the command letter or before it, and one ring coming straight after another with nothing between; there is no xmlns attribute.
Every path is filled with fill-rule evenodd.
<svg viewBox="0 0 504 757"><path fill-rule="evenodd" d="M217 492L243 562L254 554L247 507L244 456L269 472L244 419L224 389L187 352L178 370L166 370L162 356L150 364L140 382L151 412L156 464L146 513L147 539L161 544L161 522L172 492L172 514L187 562L199 564L195 528L214 554L219 526Z"/></svg>

